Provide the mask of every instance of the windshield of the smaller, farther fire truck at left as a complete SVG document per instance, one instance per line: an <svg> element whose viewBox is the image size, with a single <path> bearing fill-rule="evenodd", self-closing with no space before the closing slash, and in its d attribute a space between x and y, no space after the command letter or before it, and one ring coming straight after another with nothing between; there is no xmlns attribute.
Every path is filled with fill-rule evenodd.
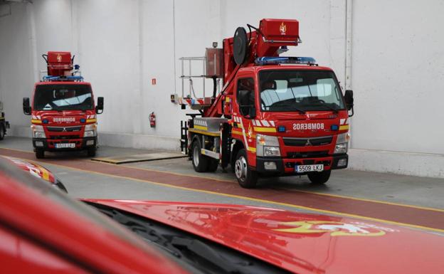
<svg viewBox="0 0 444 274"><path fill-rule="evenodd" d="M89 85L38 85L34 110L91 110L93 98Z"/></svg>

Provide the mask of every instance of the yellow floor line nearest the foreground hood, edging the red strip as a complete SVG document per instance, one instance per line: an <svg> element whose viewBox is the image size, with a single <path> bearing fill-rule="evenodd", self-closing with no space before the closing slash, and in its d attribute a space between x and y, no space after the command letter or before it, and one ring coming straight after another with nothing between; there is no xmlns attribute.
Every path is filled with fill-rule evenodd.
<svg viewBox="0 0 444 274"><path fill-rule="evenodd" d="M18 158L18 157L16 157L16 158ZM18 158L18 159L23 159L23 158ZM26 160L26 159L24 159L24 160ZM191 188L184 187L184 186L174 186L174 185L171 185L171 184L157 183L157 182L154 182L154 181L136 179L136 178L131 178L131 177L127 177L127 176L118 176L118 175L106 174L106 173L102 173L102 172L93 172L93 171L89 171L89 170L77 169L75 167L66 167L66 166L63 166L61 164L52 164L52 165L54 165L56 167L66 168L66 169L73 169L73 170L78 171L78 172L87 172L87 173L90 173L90 174L99 174L99 175L104 175L104 176L111 176L111 177L119 178L119 179L128 179L128 180L132 180L132 181L140 181L140 182L144 182L144 183L155 184L155 185L158 185L158 186L166 186L166 187L170 187L170 188L174 188L174 189L181 189L181 190L186 190L186 191L196 191L196 192L213 194L213 195L218 195L218 196L226 196L226 197L231 197L231 198L236 198L236 199L257 201L257 202L261 202L261 203L265 203L265 204L277 204L277 205L280 205L280 206L288 206L288 207L292 207L292 208L295 208L295 209L305 209L305 210L308 210L308 211L316 211L316 212L320 212L320 213L323 213L323 214L334 214L334 215L339 215L339 216L347 216L347 217L351 217L351 218L361 218L361 219L365 219L365 220L369 220L369 221L376 221L376 222L381 222L381 223L389 223L389 224L394 224L394 225L397 225L397 226L408 226L408 227L411 227L411 228L420 228L420 229L424 229L424 230L428 230L428 231L435 231L435 232L439 232L439 233L444 233L444 229L430 228L430 227L427 227L427 226L418 226L418 225L414 225L414 224L411 224L411 223L401 223L401 222L396 222L396 221L388 221L388 220L384 220L384 219L380 219L380 218L371 218L371 217L367 217L367 216L360 216L360 215L355 215L355 214L346 214L346 213L337 212L337 211L329 211L329 210L324 210L324 209L315 209L315 208L311 208L311 207L307 207L307 206L298 206L298 205L295 205L295 204L285 204L285 203L280 203L280 202L277 202L277 201L268 201L268 200L264 200L264 199L250 198L250 197L239 196L239 195L234 195L234 194L224 194L224 193L208 191L208 190L203 190L203 189L191 189Z"/></svg>

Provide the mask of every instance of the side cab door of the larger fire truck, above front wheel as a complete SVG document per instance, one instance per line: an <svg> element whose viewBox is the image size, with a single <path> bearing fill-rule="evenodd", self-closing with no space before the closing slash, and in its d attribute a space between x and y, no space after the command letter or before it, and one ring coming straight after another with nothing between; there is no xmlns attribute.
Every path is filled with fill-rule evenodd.
<svg viewBox="0 0 444 274"><path fill-rule="evenodd" d="M233 138L243 142L248 153L248 164L255 167L256 136L253 132L253 119L256 116L256 92L253 76L238 78L235 97L236 103L233 105Z"/></svg>

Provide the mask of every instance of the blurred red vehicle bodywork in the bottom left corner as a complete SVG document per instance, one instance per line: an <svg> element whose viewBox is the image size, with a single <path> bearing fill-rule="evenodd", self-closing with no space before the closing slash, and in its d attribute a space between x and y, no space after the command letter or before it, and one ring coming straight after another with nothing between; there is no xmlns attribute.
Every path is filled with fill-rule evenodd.
<svg viewBox="0 0 444 274"><path fill-rule="evenodd" d="M4 167L6 159L0 161ZM35 180L38 178L15 166L8 173L0 170L2 273L28 273L36 264L40 268L29 273L38 273L38 269L58 270L53 273L186 273L106 216L81 204L77 207L85 206L84 211L73 210L70 203L63 204L57 194L48 194ZM6 245L11 242L15 245ZM31 244L31 251L23 249Z"/></svg>

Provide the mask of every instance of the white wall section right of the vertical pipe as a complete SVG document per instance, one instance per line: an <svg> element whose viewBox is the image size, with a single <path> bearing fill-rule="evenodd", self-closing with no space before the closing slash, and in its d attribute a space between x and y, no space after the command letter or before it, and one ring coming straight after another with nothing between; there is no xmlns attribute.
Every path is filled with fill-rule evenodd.
<svg viewBox="0 0 444 274"><path fill-rule="evenodd" d="M444 154L444 1L353 5L353 147Z"/></svg>

